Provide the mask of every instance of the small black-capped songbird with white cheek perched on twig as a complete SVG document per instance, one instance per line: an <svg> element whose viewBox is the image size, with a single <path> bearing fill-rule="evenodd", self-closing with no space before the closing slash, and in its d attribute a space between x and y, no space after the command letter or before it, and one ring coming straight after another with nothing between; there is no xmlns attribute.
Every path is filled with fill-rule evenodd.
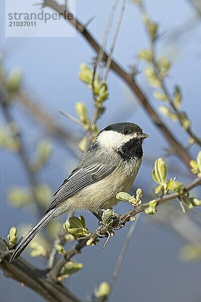
<svg viewBox="0 0 201 302"><path fill-rule="evenodd" d="M44 216L14 251L10 262L20 256L30 241L50 221L68 211L91 212L117 204L116 195L127 192L142 162L142 142L149 137L134 123L116 123L100 131L93 146L54 193Z"/></svg>

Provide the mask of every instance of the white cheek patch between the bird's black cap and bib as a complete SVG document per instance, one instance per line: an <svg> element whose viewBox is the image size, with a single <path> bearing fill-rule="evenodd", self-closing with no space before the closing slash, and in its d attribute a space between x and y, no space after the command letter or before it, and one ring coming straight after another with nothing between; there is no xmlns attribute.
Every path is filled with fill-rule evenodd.
<svg viewBox="0 0 201 302"><path fill-rule="evenodd" d="M107 149L116 149L121 147L133 137L134 135L124 135L122 133L109 130L101 132L97 137L97 141L100 143L100 145L106 147Z"/></svg>

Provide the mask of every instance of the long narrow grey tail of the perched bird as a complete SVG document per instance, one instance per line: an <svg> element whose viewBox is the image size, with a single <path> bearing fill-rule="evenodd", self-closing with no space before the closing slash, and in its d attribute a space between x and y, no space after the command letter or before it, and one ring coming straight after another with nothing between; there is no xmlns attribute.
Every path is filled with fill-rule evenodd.
<svg viewBox="0 0 201 302"><path fill-rule="evenodd" d="M32 241L32 239L40 232L43 227L52 219L58 209L52 209L47 214L45 214L28 232L28 234L22 239L17 249L14 251L13 255L11 256L10 262L15 260L20 256L20 254L24 251L27 245Z"/></svg>

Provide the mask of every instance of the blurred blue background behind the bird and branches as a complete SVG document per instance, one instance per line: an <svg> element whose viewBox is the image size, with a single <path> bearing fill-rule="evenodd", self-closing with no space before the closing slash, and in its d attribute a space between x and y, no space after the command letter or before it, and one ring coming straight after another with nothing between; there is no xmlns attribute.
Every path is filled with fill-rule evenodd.
<svg viewBox="0 0 201 302"><path fill-rule="evenodd" d="M94 19L88 29L102 43L105 28L113 3L105 0L76 1L76 10L73 14L85 24L91 17ZM69 1L70 7L70 1ZM187 112L192 122L194 132L200 136L200 70L201 70L201 17L193 6L193 1L187 0L147 0L146 8L152 20L160 24L161 37L157 42L157 54L167 56L172 67L167 79L168 88L173 85L181 87L183 101L182 108ZM45 141L50 147L51 154L48 162L38 173L37 182L43 187L42 210L51 201L51 194L68 176L78 162L79 152L77 142L83 137L84 131L73 122L61 116L58 112L63 109L75 116L75 102L83 102L89 116L92 114L93 101L91 92L78 79L80 63L90 65L95 56L91 47L76 32L72 38L6 38L4 28L5 3L0 3L2 18L0 19L0 50L2 54L1 68L9 74L14 68L22 70L22 88L32 100L32 110L23 102L13 100L10 114L20 129L21 139L25 146L25 156L30 160L36 158L39 142ZM47 11L51 11L47 8ZM120 11L120 9L119 9ZM114 24L118 21L118 14ZM63 21L65 27L65 22ZM115 27L112 28L108 45L110 46ZM149 47L147 34L141 20L141 15L131 1L127 1L122 25L120 28L114 59L125 69L136 63L139 73L137 82L152 106L158 110L160 101L153 97L153 90L147 84L144 75L144 64L137 59L139 49ZM109 48L108 48L109 49ZM167 156L165 149L168 144L153 125L149 116L139 105L126 85L110 71L108 78L110 92L106 101L106 111L98 120L99 129L108 124L130 121L139 124L145 133L150 135L144 142L144 159L138 173L135 185L144 190L143 201L154 197L155 184L151 177L154 161L164 157L168 166L168 176L176 176L178 180L187 184L193 176L175 156ZM26 102L25 102L26 103ZM40 123L40 115L33 114L37 108L43 108L49 113L52 120L61 125L73 139L67 140L62 135L52 135L47 127ZM7 120L0 110L0 127L5 127ZM187 135L177 122L163 117L171 131L183 144L187 145ZM195 158L199 148L193 145L190 148L191 158ZM33 203L16 198L16 188L24 189L26 193L30 181L27 171L18 153L2 147L1 155L1 220L0 230L2 237L7 237L11 226L25 230L40 216ZM14 190L15 189L15 190ZM200 189L193 194L200 197ZM26 195L26 194L25 194ZM121 202L116 211L124 213L130 205ZM172 210L173 209L173 210ZM41 210L41 211L42 211ZM90 213L82 213L86 219L88 229L93 231L97 221ZM59 219L64 222L65 216ZM154 216L144 213L140 216L134 236L122 264L116 286L110 296L111 301L183 301L198 302L201 299L200 269L201 262L197 257L186 255L184 248L189 244L200 244L201 212L196 208L185 216L177 202L173 201L158 208ZM113 270L129 230L129 223L125 228L116 232L103 250L104 240L95 247L85 248L75 260L83 263L83 269L67 279L65 284L78 297L85 299L93 292L93 288L102 281L111 281ZM52 229L44 235L50 240ZM49 233L48 233L49 232ZM23 231L22 233L23 234ZM194 251L192 251L193 253ZM45 266L45 260L30 258L29 251L23 257L38 265ZM193 261L186 261L192 258ZM200 260L200 259L199 259ZM0 272L1 299L11 301L18 297L21 301L42 301L37 293L29 288L22 287L12 279L5 278ZM12 289L12 290L11 290Z"/></svg>

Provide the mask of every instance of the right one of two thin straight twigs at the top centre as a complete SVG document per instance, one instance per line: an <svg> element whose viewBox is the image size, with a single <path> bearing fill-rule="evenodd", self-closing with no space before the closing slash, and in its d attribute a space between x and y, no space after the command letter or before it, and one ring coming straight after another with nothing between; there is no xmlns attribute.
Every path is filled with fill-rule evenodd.
<svg viewBox="0 0 201 302"><path fill-rule="evenodd" d="M104 81L106 81L106 79L108 78L108 73L109 73L109 70L110 70L112 56L113 56L113 52L114 52L114 49L115 49L115 45L117 43L117 37L118 37L119 31L120 31L120 26L121 26L122 19L123 19L123 16L124 16L125 8L126 8L126 0L123 0L119 20L118 20L118 23L117 23L117 27L116 27L113 42L112 42L112 46L111 46L110 52L108 54L108 59L107 59L107 62L106 62L106 71L105 71L105 75L104 75Z"/></svg>

